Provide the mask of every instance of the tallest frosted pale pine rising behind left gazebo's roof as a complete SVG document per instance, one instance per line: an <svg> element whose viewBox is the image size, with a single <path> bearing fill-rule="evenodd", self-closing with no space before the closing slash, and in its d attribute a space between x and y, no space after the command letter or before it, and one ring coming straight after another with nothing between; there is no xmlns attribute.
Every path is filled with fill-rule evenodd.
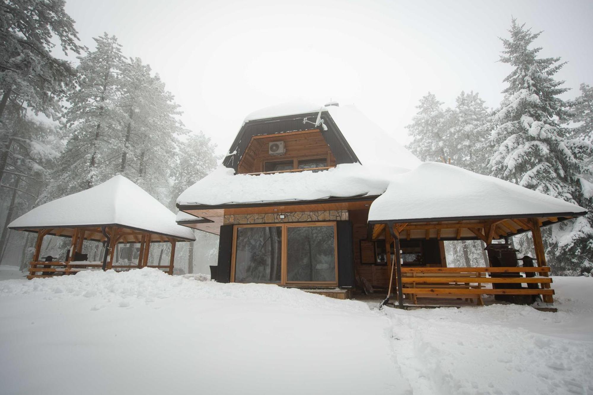
<svg viewBox="0 0 593 395"><path fill-rule="evenodd" d="M79 56L77 87L68 94L65 113L70 138L43 200L88 189L115 174L106 164L119 155L113 147L125 119L118 106L125 59L116 37L104 33L94 40L95 49Z"/></svg>

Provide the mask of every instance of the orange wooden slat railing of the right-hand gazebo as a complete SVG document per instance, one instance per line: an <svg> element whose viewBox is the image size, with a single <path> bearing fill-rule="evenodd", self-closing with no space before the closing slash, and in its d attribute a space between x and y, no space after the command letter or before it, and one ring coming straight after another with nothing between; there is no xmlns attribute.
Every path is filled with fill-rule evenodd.
<svg viewBox="0 0 593 395"><path fill-rule="evenodd" d="M554 295L550 267L402 267L403 294L417 297L476 298L482 295ZM515 273L514 277L492 277L492 273ZM525 273L525 277L521 276ZM487 288L486 285L526 284L527 288Z"/></svg>

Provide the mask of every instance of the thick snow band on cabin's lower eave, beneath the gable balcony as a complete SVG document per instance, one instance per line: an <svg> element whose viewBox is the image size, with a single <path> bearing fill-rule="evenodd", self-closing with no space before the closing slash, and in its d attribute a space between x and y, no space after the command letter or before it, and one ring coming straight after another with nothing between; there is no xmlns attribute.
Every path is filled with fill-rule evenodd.
<svg viewBox="0 0 593 395"><path fill-rule="evenodd" d="M218 167L186 189L180 205L224 205L232 203L286 202L380 195L388 182L358 163L340 164L327 171L233 175L234 170Z"/></svg>

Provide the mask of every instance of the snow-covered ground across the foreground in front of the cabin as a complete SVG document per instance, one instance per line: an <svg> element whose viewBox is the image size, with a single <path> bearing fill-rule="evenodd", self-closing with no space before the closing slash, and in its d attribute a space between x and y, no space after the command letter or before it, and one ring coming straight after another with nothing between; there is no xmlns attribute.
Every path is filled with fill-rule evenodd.
<svg viewBox="0 0 593 395"><path fill-rule="evenodd" d="M199 279L1 281L0 393L593 394L591 278L554 278L558 313L378 311Z"/></svg>

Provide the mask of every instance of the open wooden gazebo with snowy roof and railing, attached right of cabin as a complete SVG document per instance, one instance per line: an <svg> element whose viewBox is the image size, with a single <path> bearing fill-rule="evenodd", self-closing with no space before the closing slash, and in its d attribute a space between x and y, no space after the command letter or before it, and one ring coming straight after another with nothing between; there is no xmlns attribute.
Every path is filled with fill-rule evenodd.
<svg viewBox="0 0 593 395"><path fill-rule="evenodd" d="M585 214L581 206L508 181L449 164L427 162L393 177L385 193L369 209L368 231L372 240L384 237L387 245L394 243L396 272L392 267L391 278L396 279L400 306L403 294L413 301L417 295L477 295L479 301L483 294L542 295L544 302L551 303L554 290L540 228ZM489 246L489 258L492 254L495 260L503 261L505 253L515 250L496 249L492 241L523 232L533 235L535 267L527 267L525 262L522 267L508 267L504 262L500 267L401 265L400 240L482 240ZM511 261L516 265L516 259ZM450 287L451 283L476 285L459 289ZM522 288L522 283L528 287ZM484 288L485 284L493 286Z"/></svg>

